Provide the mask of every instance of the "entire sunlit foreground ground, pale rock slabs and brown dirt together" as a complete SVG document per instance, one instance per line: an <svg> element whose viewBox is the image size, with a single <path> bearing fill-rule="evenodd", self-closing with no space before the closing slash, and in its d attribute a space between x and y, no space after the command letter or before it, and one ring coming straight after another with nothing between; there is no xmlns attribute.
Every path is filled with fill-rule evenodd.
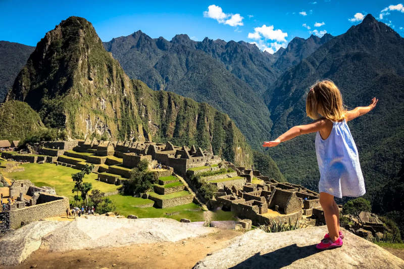
<svg viewBox="0 0 404 269"><path fill-rule="evenodd" d="M229 229L229 227L224 228ZM69 265L66 259L71 260L68 258L69 253L73 253L73 257L82 257L83 254L79 254L80 251L85 251L84 255L87 257L90 255L89 250L92 249L88 258L96 259L98 265L110 261L111 265L118 263L117 268L142 267L145 264L151 267L161 267L164 264L163 267L178 268L191 267L195 263L194 268L198 269L404 268L404 260L345 230L343 230L344 245L341 248L326 251L318 251L315 248L326 233L325 226L283 233L252 230L238 235L240 232L233 231L233 236L236 236L234 238L229 237L229 232L204 227L203 223L180 223L164 218L129 220L91 216L72 222L39 221L28 224L0 239L0 264L16 265L26 260L31 254L32 257L28 259L28 262L38 262L37 256L40 255L39 261L41 261L45 253L47 258L43 262L47 265L60 264L61 260L65 260L61 263L64 265L63 268L74 266L86 268L88 264L79 262ZM221 242L220 234L226 233L226 239ZM203 236L208 234L211 235ZM187 238L187 241L183 241ZM232 239L228 240L229 238ZM155 246L148 247L154 243ZM183 249L184 244L187 244L186 249ZM134 249L132 246L139 247ZM144 255L141 253L143 248L147 252L143 253ZM192 255L191 249L194 248L205 254ZM113 255L113 259L111 255L108 256L107 252L111 252L112 249L119 249L118 252L122 254L122 257L117 253ZM207 249L213 252L208 253ZM101 254L98 253L99 251ZM52 255L46 253L55 253L57 257L52 258ZM208 255L203 258L206 253ZM181 266L184 259L188 263L186 266ZM196 262L198 259L201 260ZM142 260L145 260L144 264L141 263ZM91 262L93 261L90 260ZM38 267L42 265L44 264L38 264Z"/></svg>

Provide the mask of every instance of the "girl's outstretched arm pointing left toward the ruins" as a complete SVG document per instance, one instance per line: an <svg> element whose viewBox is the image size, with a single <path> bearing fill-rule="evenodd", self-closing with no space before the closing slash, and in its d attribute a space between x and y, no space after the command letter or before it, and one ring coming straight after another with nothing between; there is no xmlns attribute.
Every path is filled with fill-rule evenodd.
<svg viewBox="0 0 404 269"><path fill-rule="evenodd" d="M274 147L274 146L277 146L280 142L285 142L287 140L295 138L296 136L299 136L302 134L310 134L310 133L320 131L326 127L327 122L329 122L329 121L327 121L324 118L321 118L321 119L316 120L307 125L294 126L294 127L290 128L288 131L286 131L285 133L281 134L277 139L275 139L273 141L264 142L264 144L262 146L263 147Z"/></svg>

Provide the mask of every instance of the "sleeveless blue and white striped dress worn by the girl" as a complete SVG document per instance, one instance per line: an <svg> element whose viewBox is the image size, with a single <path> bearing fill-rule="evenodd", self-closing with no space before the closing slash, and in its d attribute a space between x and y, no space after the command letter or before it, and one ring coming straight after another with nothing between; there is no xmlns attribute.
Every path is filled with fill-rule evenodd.
<svg viewBox="0 0 404 269"><path fill-rule="evenodd" d="M365 194L358 149L345 120L333 122L327 139L317 132L316 154L320 170L319 192L339 198Z"/></svg>

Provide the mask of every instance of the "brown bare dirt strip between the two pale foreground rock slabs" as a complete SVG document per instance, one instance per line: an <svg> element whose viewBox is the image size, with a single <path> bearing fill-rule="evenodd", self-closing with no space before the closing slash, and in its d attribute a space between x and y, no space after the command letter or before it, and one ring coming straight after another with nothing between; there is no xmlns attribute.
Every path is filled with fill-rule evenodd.
<svg viewBox="0 0 404 269"><path fill-rule="evenodd" d="M220 230L215 234L175 243L163 242L65 253L39 249L20 265L0 265L0 268L192 268L209 252L223 248L227 240L240 234L232 230Z"/></svg>

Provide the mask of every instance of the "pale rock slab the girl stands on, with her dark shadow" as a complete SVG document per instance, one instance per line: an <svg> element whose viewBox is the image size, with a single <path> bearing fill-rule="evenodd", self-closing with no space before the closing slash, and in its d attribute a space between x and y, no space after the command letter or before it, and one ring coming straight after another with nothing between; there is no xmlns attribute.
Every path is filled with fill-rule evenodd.
<svg viewBox="0 0 404 269"><path fill-rule="evenodd" d="M319 251L327 228L312 227L283 233L249 231L228 247L198 261L194 268L404 268L404 260L343 230L342 247Z"/></svg>

